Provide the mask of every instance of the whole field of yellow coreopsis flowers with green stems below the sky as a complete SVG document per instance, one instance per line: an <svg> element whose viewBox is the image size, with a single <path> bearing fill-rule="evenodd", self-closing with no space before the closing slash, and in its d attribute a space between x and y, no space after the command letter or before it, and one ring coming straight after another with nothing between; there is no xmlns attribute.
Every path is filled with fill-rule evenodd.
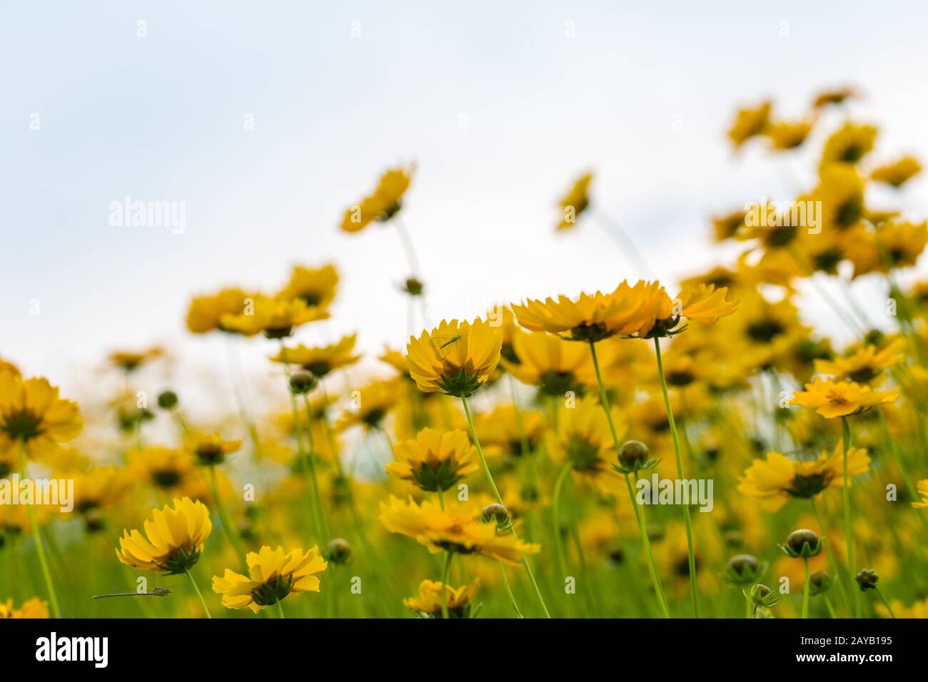
<svg viewBox="0 0 928 682"><path fill-rule="evenodd" d="M187 329L226 341L233 415L174 391L139 400L168 376L152 379L170 360L160 347L111 353L122 391L83 416L0 360L0 479L74 482L68 511L0 505L0 617L211 616L216 603L284 617L286 598L312 592L288 610L925 617L928 282L912 266L928 225L871 203L874 186L901 198L921 166L870 163L878 131L846 117L855 97L822 93L799 120L771 102L737 113L733 148L766 140L777 158L811 159L814 178L794 201L715 218L737 255L674 296L623 280L435 326L423 308L405 348L364 358L357 334L308 341L340 274L296 266L272 292L189 304ZM382 174L340 225L396 229L410 319L427 295L402 222L415 171ZM593 181L557 202L555 232L601 219ZM883 324L856 280L892 302ZM855 341L837 351L803 321L809 294ZM275 383L255 392L238 348L268 341ZM38 598L18 580L32 557ZM160 598L116 598L135 595Z"/></svg>

